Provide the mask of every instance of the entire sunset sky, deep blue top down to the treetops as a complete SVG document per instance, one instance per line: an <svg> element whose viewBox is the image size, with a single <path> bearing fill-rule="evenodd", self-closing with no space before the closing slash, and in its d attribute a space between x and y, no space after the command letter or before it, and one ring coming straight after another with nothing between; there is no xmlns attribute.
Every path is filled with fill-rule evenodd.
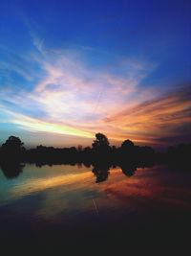
<svg viewBox="0 0 191 256"><path fill-rule="evenodd" d="M0 144L191 142L191 3L1 0Z"/></svg>

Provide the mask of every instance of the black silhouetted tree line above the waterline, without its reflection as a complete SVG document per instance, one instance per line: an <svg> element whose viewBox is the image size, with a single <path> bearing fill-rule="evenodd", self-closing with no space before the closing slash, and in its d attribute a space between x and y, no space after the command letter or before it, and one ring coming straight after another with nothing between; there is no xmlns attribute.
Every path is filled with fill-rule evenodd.
<svg viewBox="0 0 191 256"><path fill-rule="evenodd" d="M96 133L92 147L78 146L70 148L53 148L39 145L34 149L26 150L19 137L10 136L0 148L0 162L19 161L29 163L95 163L110 162L137 162L153 163L166 161L187 161L190 159L191 144L180 144L170 147L163 153L153 148L135 145L131 140L125 140L120 147L111 146L106 135Z"/></svg>

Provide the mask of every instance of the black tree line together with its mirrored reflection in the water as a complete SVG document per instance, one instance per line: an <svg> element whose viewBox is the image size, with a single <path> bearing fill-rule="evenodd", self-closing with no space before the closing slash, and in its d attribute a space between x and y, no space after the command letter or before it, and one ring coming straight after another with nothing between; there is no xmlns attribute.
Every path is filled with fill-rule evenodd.
<svg viewBox="0 0 191 256"><path fill-rule="evenodd" d="M45 164L83 164L92 168L96 182L102 182L108 178L110 169L116 167L126 176L134 175L138 168L155 164L167 164L172 170L190 171L190 156L190 144L170 147L161 153L148 146L139 147L128 139L120 147L110 146L107 136L102 133L96 133L92 147L63 149L40 145L26 150L20 138L10 136L0 148L0 167L6 177L13 178L22 173L25 163L38 167Z"/></svg>

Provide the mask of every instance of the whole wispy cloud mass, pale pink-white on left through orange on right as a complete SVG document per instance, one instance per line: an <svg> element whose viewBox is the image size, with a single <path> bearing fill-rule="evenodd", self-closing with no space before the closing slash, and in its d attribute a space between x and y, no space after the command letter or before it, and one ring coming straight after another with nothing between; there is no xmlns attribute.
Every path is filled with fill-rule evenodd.
<svg viewBox="0 0 191 256"><path fill-rule="evenodd" d="M87 138L102 131L112 139L152 144L178 135L178 128L191 121L188 86L163 96L159 87L140 86L156 63L122 58L99 69L80 51L46 49L35 35L32 44L37 74L28 74L24 62L2 65L32 81L30 89L20 84L18 90L13 81L9 89L0 88L1 110L18 128Z"/></svg>

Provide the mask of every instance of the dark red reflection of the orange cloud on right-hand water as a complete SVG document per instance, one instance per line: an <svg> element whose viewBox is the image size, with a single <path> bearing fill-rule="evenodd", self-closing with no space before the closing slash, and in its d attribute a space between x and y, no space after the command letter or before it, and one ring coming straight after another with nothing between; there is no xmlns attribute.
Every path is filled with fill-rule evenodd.
<svg viewBox="0 0 191 256"><path fill-rule="evenodd" d="M172 174L162 166L138 168L137 174L131 178L115 178L114 182L103 183L101 189L113 201L116 200L117 205L121 202L138 211L153 207L157 211L190 209L190 182L186 182L186 177L180 173L172 178Z"/></svg>

